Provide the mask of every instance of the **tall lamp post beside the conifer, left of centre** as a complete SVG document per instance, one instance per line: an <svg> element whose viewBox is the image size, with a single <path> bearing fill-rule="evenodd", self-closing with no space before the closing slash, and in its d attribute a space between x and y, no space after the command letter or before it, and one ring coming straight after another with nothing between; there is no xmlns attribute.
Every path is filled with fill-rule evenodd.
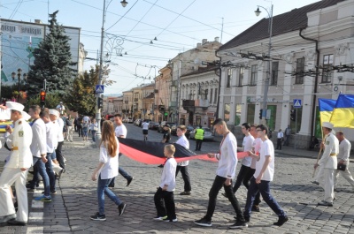
<svg viewBox="0 0 354 234"><path fill-rule="evenodd" d="M123 7L127 6L126 0L120 2ZM102 85L102 77L103 77L103 57L104 57L104 21L105 21L105 14L106 14L106 7L105 7L105 0L104 0L104 12L102 16L102 28L101 28L101 47L100 47L100 68L98 73L98 84ZM100 98L101 94L96 94L96 122L98 123L97 132L96 132L96 146L101 143L101 109L98 108L98 99Z"/></svg>

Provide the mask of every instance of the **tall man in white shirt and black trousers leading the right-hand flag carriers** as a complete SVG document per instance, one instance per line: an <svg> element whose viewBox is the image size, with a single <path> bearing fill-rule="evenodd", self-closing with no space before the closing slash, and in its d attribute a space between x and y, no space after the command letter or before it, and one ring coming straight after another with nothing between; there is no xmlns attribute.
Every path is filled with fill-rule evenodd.
<svg viewBox="0 0 354 234"><path fill-rule="evenodd" d="M236 212L236 223L230 226L233 229L245 228L247 223L244 220L240 204L235 198L235 193L232 187L232 178L235 177L235 170L237 166L237 140L233 133L227 129L227 124L221 118L215 120L213 128L218 134L222 134L224 138L220 144L219 154L209 153L209 157L215 157L219 160L219 166L216 170L216 177L209 192L208 210L204 218L195 221L199 226L211 227L212 215L216 206L216 199L222 187L224 187L228 200L230 200Z"/></svg>

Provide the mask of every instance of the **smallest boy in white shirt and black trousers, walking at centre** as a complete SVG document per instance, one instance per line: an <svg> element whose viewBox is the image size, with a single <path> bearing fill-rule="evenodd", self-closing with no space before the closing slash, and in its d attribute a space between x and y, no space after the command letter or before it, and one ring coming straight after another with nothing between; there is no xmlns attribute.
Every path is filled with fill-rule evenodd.
<svg viewBox="0 0 354 234"><path fill-rule="evenodd" d="M175 151L176 149L173 145L165 145L164 147L164 155L167 160L164 170L162 171L161 183L154 196L155 206L158 211L158 216L156 216L154 220L177 222L176 208L173 200L173 191L176 187L175 174L177 167L177 162L173 157Z"/></svg>

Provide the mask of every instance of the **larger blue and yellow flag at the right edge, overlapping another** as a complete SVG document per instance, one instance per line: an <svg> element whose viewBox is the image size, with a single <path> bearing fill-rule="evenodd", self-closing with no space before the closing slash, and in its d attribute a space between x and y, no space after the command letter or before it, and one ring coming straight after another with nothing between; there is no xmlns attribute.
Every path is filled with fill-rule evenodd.
<svg viewBox="0 0 354 234"><path fill-rule="evenodd" d="M335 127L354 128L354 95L339 94L329 122Z"/></svg>

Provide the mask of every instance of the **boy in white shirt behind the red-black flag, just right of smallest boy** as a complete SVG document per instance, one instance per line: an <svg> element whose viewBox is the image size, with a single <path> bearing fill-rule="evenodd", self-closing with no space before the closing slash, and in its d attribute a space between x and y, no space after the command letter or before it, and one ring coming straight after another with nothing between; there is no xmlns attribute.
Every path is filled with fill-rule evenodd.
<svg viewBox="0 0 354 234"><path fill-rule="evenodd" d="M189 149L189 140L184 135L186 131L187 131L187 127L185 125L177 126L178 140L176 141L176 144L179 144L182 147ZM190 191L192 190L192 187L190 186L188 165L189 165L189 160L177 163L176 177L178 175L178 172L181 170L182 178L184 181L184 191L181 192L180 195L190 195Z"/></svg>

